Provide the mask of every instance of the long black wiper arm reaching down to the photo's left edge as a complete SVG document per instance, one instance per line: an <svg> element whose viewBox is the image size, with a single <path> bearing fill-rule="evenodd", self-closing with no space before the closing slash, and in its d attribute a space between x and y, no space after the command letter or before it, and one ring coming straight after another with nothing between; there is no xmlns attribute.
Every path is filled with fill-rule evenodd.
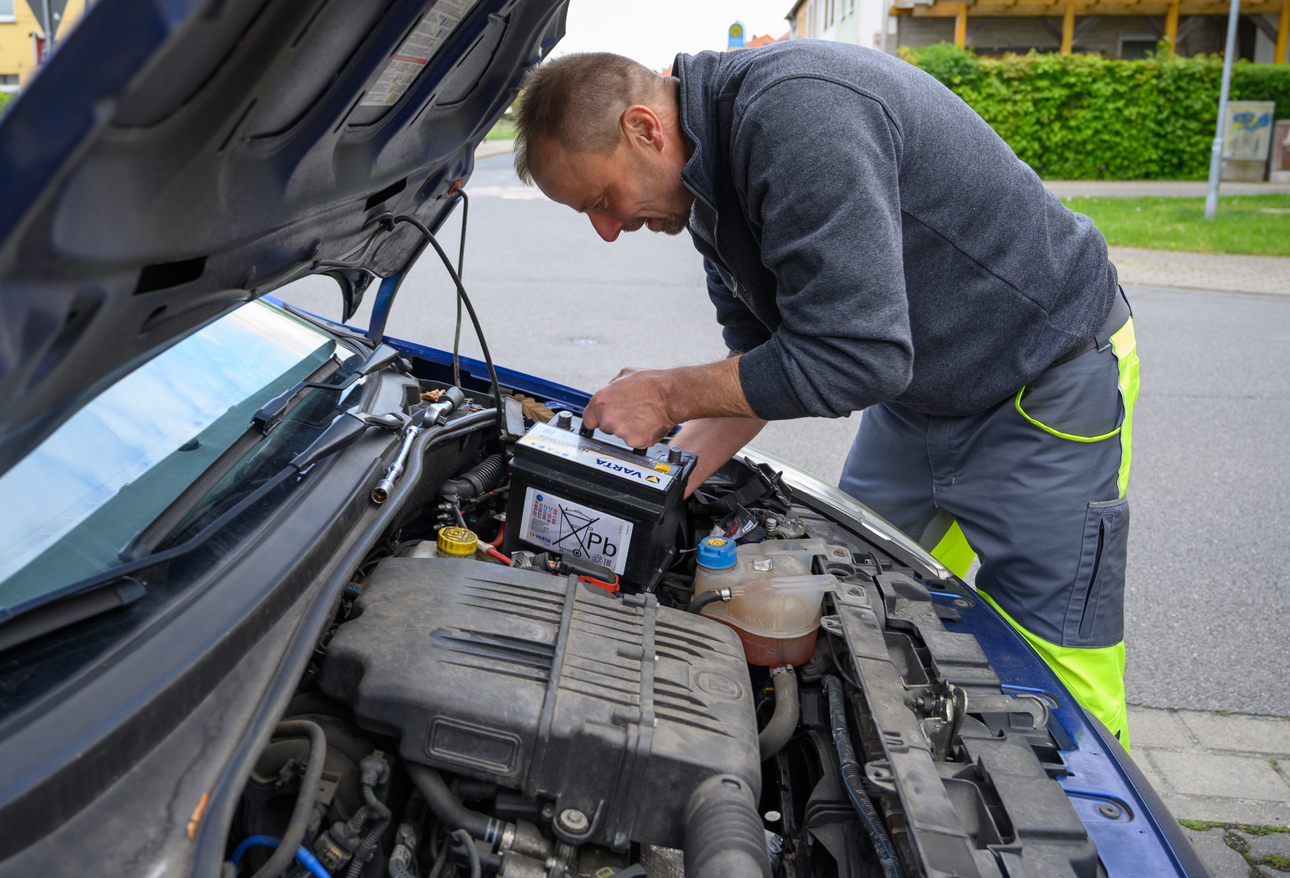
<svg viewBox="0 0 1290 878"><path fill-rule="evenodd" d="M373 415L365 411L347 411L338 415L312 445L301 451L272 478L179 545L86 576L12 607L0 607L0 650L26 643L58 628L138 601L143 597L144 589L143 584L134 579L134 574L200 548L223 530L228 522L259 503L288 478L352 445L368 427L400 432L409 423L412 419L401 413Z"/></svg>

